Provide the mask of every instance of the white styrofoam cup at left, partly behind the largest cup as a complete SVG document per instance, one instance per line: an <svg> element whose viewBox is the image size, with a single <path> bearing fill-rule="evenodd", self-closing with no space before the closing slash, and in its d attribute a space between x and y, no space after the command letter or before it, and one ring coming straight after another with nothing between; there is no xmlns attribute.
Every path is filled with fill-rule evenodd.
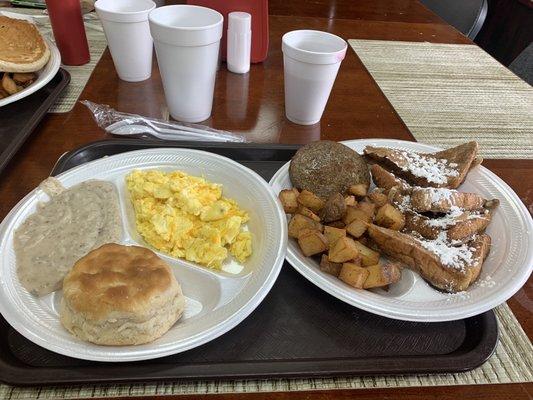
<svg viewBox="0 0 533 400"><path fill-rule="evenodd" d="M119 78L128 82L150 78L154 46L148 14L155 3L151 0L98 0L94 7L104 27Z"/></svg>

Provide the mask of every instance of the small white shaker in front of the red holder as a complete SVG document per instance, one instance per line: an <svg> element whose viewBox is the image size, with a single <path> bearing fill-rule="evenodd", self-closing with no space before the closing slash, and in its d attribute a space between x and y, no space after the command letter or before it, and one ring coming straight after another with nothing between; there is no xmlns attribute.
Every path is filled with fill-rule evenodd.
<svg viewBox="0 0 533 400"><path fill-rule="evenodd" d="M250 70L252 16L245 12L228 14L228 70L245 74Z"/></svg>

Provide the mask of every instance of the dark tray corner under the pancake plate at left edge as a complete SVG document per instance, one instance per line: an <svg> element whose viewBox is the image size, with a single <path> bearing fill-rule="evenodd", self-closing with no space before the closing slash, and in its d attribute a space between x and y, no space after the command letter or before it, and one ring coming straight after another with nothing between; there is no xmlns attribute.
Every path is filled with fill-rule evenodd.
<svg viewBox="0 0 533 400"><path fill-rule="evenodd" d="M0 172L69 82L70 74L60 68L56 76L35 93L0 107Z"/></svg>

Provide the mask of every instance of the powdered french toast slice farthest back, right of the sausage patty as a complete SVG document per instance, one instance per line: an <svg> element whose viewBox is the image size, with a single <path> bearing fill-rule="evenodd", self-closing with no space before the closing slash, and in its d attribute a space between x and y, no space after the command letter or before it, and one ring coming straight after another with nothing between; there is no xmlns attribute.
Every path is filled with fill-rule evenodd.
<svg viewBox="0 0 533 400"><path fill-rule="evenodd" d="M410 185L448 189L459 187L470 168L482 161L477 153L478 144L474 141L429 154L374 146L364 149L369 162L379 164Z"/></svg>

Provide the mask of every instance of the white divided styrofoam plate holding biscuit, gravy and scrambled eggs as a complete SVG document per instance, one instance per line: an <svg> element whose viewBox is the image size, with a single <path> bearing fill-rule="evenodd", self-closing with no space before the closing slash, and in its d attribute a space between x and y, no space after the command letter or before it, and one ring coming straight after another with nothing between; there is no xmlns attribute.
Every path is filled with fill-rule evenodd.
<svg viewBox="0 0 533 400"><path fill-rule="evenodd" d="M252 170L228 158L189 149L151 149L105 157L57 176L65 187L88 179L115 184L119 193L124 244L146 246L135 230L125 187L132 169L181 170L223 185L223 194L248 211L253 254L238 274L208 270L158 253L174 270L187 298L184 316L160 339L139 346L99 346L78 340L60 324L61 291L43 298L19 283L13 250L15 229L48 197L35 189L0 225L0 312L22 335L38 345L70 357L97 361L135 361L179 353L207 343L246 318L274 284L287 246L287 221L271 187Z"/></svg>

